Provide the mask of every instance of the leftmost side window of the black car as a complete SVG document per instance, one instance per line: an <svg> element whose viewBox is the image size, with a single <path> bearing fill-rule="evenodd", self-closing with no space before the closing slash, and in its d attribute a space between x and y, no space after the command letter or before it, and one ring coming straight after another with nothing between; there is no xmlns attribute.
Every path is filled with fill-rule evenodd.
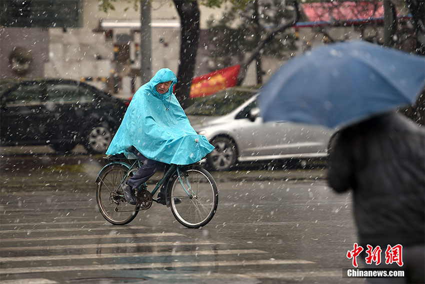
<svg viewBox="0 0 425 284"><path fill-rule="evenodd" d="M25 105L31 103L39 103L42 99L41 86L36 85L19 85L15 90L5 94L2 98L8 106Z"/></svg>

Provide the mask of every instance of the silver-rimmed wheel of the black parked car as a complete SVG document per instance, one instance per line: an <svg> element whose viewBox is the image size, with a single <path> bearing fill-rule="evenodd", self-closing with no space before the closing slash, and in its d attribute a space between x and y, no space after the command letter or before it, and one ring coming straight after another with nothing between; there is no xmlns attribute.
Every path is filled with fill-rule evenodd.
<svg viewBox="0 0 425 284"><path fill-rule="evenodd" d="M104 154L112 141L112 131L106 123L98 124L86 134L85 149L92 154Z"/></svg>

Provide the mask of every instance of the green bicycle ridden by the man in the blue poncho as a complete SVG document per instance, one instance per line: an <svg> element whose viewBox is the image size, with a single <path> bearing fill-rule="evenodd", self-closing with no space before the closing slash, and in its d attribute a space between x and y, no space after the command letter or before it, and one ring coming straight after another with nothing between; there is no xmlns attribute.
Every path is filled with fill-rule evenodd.
<svg viewBox="0 0 425 284"><path fill-rule="evenodd" d="M211 174L204 168L192 165L170 165L152 191L146 184L136 189L136 205L125 201L121 184L129 179L140 167L140 161L130 162L123 155L106 158L108 163L96 178L96 200L102 216L114 225L131 222L140 210L152 205L152 198L169 177L166 186L166 205L171 207L175 219L185 227L199 228L214 216L218 205L217 185ZM175 198L181 202L175 202Z"/></svg>

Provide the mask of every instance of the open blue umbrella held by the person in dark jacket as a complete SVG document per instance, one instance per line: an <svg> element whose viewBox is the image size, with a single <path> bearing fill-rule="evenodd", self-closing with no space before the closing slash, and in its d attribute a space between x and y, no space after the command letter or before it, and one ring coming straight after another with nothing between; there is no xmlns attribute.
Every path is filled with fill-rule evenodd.
<svg viewBox="0 0 425 284"><path fill-rule="evenodd" d="M423 57L354 41L289 60L257 100L264 121L333 128L412 105L424 85Z"/></svg>

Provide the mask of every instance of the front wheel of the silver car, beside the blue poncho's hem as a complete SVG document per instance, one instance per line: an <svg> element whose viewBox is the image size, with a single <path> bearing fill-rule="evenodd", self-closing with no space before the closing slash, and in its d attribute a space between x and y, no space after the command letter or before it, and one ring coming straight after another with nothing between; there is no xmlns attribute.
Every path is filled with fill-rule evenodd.
<svg viewBox="0 0 425 284"><path fill-rule="evenodd" d="M215 149L206 156L208 166L216 171L225 171L233 166L237 156L233 140L227 137L216 137L210 143Z"/></svg>

